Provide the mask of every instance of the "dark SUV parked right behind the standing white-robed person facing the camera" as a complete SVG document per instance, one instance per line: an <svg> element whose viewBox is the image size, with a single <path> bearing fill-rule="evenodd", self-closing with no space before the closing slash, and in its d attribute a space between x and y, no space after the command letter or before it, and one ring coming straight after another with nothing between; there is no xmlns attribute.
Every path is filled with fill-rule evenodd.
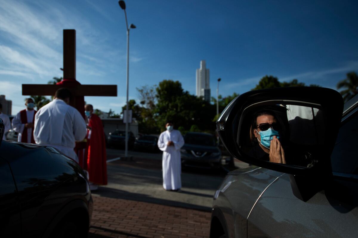
<svg viewBox="0 0 358 238"><path fill-rule="evenodd" d="M182 165L191 167L218 168L221 166L221 150L216 138L207 133L188 132L180 150Z"/></svg>

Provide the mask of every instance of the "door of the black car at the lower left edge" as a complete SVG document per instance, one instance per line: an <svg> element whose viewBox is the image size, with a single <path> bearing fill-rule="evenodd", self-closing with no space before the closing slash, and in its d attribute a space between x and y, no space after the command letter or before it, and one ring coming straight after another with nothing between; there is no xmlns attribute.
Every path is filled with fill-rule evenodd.
<svg viewBox="0 0 358 238"><path fill-rule="evenodd" d="M8 162L0 158L0 237L21 237L19 197Z"/></svg>

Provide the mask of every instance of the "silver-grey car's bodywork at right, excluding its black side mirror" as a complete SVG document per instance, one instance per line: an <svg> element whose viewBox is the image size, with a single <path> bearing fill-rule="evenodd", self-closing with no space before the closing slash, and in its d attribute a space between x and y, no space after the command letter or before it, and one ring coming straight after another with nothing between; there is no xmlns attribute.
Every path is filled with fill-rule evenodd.
<svg viewBox="0 0 358 238"><path fill-rule="evenodd" d="M342 122L353 117L358 122L358 96L345 104ZM352 128L339 141L342 130L336 147L358 140ZM358 165L357 154L350 160ZM214 195L211 237L358 237L357 170L334 171L333 165L324 189L304 202L292 192L289 174L256 166L234 170Z"/></svg>

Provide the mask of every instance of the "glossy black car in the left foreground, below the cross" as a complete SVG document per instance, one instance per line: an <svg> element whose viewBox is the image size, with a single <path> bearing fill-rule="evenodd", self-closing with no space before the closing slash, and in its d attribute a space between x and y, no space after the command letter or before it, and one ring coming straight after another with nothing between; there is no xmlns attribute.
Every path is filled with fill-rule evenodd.
<svg viewBox="0 0 358 238"><path fill-rule="evenodd" d="M81 167L52 147L2 141L0 121L0 237L87 237L93 201Z"/></svg>

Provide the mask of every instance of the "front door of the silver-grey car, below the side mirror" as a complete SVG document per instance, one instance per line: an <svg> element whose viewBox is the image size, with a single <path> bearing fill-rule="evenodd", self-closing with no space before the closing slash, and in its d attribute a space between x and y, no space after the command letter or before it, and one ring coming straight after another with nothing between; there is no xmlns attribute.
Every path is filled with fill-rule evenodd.
<svg viewBox="0 0 358 238"><path fill-rule="evenodd" d="M290 175L281 175L253 207L247 236L357 237L357 108L342 120L331 162L333 176L306 202L292 193Z"/></svg>

